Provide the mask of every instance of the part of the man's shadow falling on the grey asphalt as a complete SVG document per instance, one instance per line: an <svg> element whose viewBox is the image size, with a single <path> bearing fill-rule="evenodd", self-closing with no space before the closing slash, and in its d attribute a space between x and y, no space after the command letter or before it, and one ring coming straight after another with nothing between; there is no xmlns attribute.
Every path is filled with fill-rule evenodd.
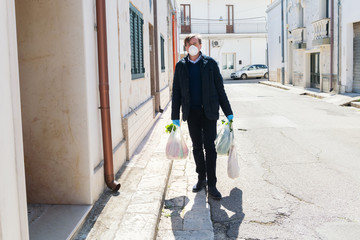
<svg viewBox="0 0 360 240"><path fill-rule="evenodd" d="M242 195L242 191L235 187L229 196L223 197L220 201L209 201L215 239L238 237L240 225L245 217Z"/></svg>

